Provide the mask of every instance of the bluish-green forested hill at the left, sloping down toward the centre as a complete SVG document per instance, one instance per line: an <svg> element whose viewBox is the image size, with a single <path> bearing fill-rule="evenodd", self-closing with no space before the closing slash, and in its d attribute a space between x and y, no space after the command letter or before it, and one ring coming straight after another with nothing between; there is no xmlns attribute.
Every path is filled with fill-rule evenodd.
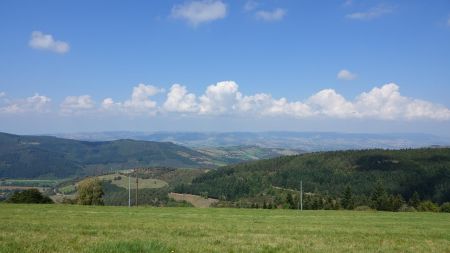
<svg viewBox="0 0 450 253"><path fill-rule="evenodd" d="M140 166L212 167L214 162L170 142L88 142L0 133L0 178L62 178Z"/></svg>

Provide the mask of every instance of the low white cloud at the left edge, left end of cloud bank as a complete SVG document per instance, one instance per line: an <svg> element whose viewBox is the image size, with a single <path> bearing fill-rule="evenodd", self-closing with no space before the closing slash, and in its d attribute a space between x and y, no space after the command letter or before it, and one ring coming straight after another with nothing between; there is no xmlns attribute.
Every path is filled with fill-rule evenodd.
<svg viewBox="0 0 450 253"><path fill-rule="evenodd" d="M3 93L5 96L6 94ZM35 94L32 97L18 99L7 102L6 105L0 107L0 113L25 113L25 112L48 112L51 99L46 96Z"/></svg>

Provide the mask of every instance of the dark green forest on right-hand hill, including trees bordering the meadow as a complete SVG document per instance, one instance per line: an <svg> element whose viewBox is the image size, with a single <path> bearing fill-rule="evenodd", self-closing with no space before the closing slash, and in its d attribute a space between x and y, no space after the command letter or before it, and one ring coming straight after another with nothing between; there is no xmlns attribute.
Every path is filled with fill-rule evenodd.
<svg viewBox="0 0 450 253"><path fill-rule="evenodd" d="M307 209L336 209L344 204L394 210L414 195L419 202L442 204L450 201L450 148L285 156L211 170L175 190L208 195L230 205L294 208L300 181ZM346 194L350 204L345 202ZM414 205L418 207L418 203L410 206Z"/></svg>

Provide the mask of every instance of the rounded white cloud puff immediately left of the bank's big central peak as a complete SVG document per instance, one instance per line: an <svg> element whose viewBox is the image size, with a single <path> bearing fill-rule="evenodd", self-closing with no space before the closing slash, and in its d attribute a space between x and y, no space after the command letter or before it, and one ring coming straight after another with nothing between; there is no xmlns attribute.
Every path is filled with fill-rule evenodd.
<svg viewBox="0 0 450 253"><path fill-rule="evenodd" d="M164 109L168 112L196 112L197 98L194 94L188 93L186 86L174 84L167 93Z"/></svg>

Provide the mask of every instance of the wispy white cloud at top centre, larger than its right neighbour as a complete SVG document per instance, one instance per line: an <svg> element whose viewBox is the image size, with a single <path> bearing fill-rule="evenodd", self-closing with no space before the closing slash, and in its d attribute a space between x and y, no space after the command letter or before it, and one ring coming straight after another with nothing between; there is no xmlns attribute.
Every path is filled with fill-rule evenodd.
<svg viewBox="0 0 450 253"><path fill-rule="evenodd" d="M223 19L227 15L227 6L220 0L202 0L185 2L172 8L171 17L186 20L192 26Z"/></svg>

